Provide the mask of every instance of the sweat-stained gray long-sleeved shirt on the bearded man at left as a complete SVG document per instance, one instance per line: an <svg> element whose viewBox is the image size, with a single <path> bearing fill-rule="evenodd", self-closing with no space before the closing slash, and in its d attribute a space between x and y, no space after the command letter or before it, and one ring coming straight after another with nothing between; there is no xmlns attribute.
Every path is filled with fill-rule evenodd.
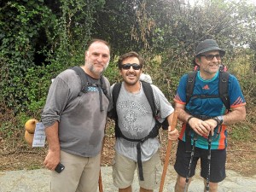
<svg viewBox="0 0 256 192"><path fill-rule="evenodd" d="M90 83L100 84L99 79L88 76ZM108 93L110 85L104 78ZM90 87L81 94L81 80L72 69L60 73L50 85L42 113L44 127L59 121L61 150L84 157L96 156L102 149L102 138L108 112L108 98L102 93L100 111L99 90Z"/></svg>

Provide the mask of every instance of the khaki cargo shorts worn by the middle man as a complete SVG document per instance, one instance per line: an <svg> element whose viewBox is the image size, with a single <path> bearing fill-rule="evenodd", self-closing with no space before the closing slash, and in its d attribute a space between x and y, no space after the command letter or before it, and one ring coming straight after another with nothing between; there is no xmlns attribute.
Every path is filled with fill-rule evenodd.
<svg viewBox="0 0 256 192"><path fill-rule="evenodd" d="M113 160L113 184L119 189L129 187L134 178L134 172L137 169L137 162L115 153ZM138 169L137 169L138 174ZM162 166L159 152L155 153L150 160L143 162L144 181L139 181L143 189L157 189L160 186Z"/></svg>

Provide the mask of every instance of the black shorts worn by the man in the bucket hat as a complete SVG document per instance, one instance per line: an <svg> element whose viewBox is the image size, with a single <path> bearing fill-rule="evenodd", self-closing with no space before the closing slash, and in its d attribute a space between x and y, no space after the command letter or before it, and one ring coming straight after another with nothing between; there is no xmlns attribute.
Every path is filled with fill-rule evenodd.
<svg viewBox="0 0 256 192"><path fill-rule="evenodd" d="M207 160L208 150L202 148L195 148L194 158L190 166L190 175L193 177L195 175L195 167L197 161L201 159L201 177L207 179L208 174L208 160ZM178 141L177 144L177 154L174 169L178 175L181 177L187 177L189 172L189 160L191 158L191 153L186 152L185 143L183 141ZM226 149L214 149L211 150L211 169L210 169L210 182L218 183L224 180L226 177L225 173L225 163L226 163Z"/></svg>

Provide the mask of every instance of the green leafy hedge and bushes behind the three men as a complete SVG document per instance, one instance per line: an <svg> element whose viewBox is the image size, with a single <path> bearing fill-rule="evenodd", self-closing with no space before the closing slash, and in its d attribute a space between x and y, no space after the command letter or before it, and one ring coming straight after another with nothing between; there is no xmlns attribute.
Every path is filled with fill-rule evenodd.
<svg viewBox="0 0 256 192"><path fill-rule="evenodd" d="M192 70L196 44L214 38L226 50L224 64L240 80L247 119L255 122L256 20L255 7L246 1L3 0L0 5L0 106L14 118L24 113L39 118L50 79L84 62L90 38L112 44L105 72L111 83L120 80L118 55L135 50L146 60L144 72L170 101L179 78Z"/></svg>

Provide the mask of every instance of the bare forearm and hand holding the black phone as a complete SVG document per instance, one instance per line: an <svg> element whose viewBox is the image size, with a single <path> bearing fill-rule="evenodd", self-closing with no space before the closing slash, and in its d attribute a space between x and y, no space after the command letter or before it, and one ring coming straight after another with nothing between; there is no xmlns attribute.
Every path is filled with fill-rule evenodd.
<svg viewBox="0 0 256 192"><path fill-rule="evenodd" d="M48 154L44 160L44 166L54 171L61 159L61 148L58 136L59 122L55 121L53 125L45 128L47 142L49 144Z"/></svg>

